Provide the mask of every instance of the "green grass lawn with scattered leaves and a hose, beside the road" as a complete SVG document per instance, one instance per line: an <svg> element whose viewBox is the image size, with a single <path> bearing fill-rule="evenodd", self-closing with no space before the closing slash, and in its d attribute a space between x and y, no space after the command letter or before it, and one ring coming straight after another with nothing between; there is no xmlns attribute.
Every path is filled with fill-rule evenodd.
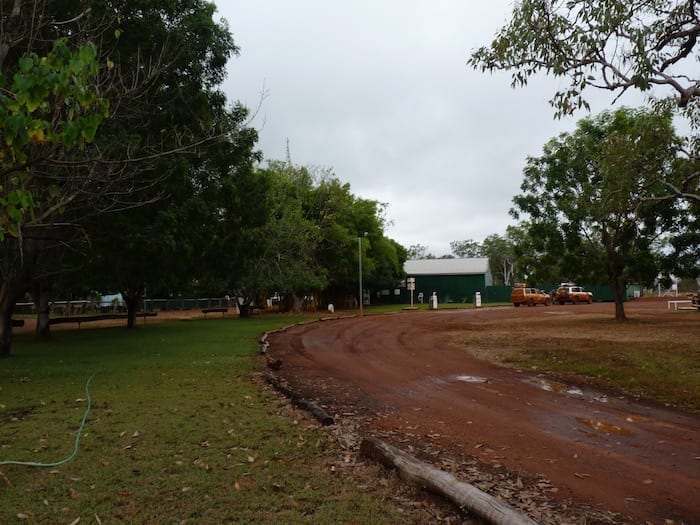
<svg viewBox="0 0 700 525"><path fill-rule="evenodd" d="M253 373L290 317L16 337L0 361L0 523L400 523Z"/></svg>

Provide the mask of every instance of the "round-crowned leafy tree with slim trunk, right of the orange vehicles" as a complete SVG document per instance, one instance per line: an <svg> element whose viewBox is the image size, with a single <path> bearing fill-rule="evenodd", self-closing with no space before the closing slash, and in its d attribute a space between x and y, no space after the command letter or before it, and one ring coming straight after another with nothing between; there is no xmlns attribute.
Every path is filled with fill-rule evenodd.
<svg viewBox="0 0 700 525"><path fill-rule="evenodd" d="M589 280L604 269L618 320L626 283L658 271L653 245L683 212L657 200L665 182L686 174L677 166L678 142L669 114L622 108L583 119L528 159L513 199L514 216L529 216L530 237L543 251Z"/></svg>

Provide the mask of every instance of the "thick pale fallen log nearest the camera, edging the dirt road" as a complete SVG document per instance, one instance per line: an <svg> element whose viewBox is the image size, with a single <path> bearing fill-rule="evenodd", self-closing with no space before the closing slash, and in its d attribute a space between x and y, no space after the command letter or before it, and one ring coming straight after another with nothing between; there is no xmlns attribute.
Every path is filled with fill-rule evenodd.
<svg viewBox="0 0 700 525"><path fill-rule="evenodd" d="M360 454L398 470L401 479L419 485L494 525L537 525L507 503L452 474L420 461L375 437L362 440Z"/></svg>

